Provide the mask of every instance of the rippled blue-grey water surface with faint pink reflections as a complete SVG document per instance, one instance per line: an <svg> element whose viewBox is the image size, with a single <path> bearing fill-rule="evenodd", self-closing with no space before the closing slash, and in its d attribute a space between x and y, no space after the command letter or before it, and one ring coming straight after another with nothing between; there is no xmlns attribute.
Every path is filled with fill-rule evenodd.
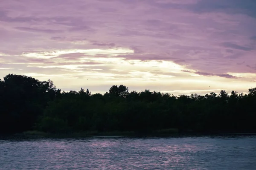
<svg viewBox="0 0 256 170"><path fill-rule="evenodd" d="M0 169L256 170L256 136L6 139Z"/></svg>

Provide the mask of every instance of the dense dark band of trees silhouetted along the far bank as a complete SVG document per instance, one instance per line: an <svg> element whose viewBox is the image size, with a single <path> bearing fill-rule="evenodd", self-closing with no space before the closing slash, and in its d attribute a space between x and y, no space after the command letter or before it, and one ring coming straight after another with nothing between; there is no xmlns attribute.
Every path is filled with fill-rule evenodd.
<svg viewBox="0 0 256 170"><path fill-rule="evenodd" d="M61 92L53 82L9 74L0 80L0 133L135 131L256 132L256 88L173 96L113 85L105 94Z"/></svg>

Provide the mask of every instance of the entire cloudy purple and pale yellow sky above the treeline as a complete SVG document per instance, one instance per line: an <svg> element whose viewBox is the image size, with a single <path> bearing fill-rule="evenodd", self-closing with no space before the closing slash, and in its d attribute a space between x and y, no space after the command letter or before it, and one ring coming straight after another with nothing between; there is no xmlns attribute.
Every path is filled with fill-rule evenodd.
<svg viewBox="0 0 256 170"><path fill-rule="evenodd" d="M62 91L256 87L256 0L0 0L0 78Z"/></svg>

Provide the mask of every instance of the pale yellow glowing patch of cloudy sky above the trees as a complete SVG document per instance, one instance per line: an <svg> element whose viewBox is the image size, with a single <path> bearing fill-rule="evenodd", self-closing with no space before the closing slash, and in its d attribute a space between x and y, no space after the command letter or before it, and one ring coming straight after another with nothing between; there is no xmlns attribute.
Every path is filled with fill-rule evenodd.
<svg viewBox="0 0 256 170"><path fill-rule="evenodd" d="M81 53L81 57L75 54L76 57L71 59L72 53ZM179 65L172 61L132 59L133 53L134 51L128 48L32 52L22 54L23 57L33 58L33 60L28 59L27 63L6 63L26 65L29 72L23 69L20 74L37 79L52 79L58 88L66 89L77 88L79 90L81 87L111 87L111 85L124 84L128 87L140 88L142 91L149 88L151 91L191 94L219 92L220 89L225 90L227 87L244 92L246 89L256 86L256 82L252 81L256 78L256 74L253 73L227 73L238 77L237 79L204 76L196 74L195 70L187 68L186 65ZM62 54L67 55L61 57ZM102 55L104 56L102 57ZM47 63L40 63L41 60L36 59L49 60ZM41 72L37 73L36 68L41 68ZM0 69L3 72L4 69L11 68ZM33 69L35 70L33 71ZM108 89L105 90L108 91ZM102 88L99 88L99 91L102 91Z"/></svg>

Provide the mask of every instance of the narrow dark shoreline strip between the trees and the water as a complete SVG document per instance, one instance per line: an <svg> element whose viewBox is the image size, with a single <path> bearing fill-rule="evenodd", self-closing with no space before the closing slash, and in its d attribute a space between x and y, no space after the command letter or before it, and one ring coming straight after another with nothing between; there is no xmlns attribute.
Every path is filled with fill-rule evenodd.
<svg viewBox="0 0 256 170"><path fill-rule="evenodd" d="M179 132L177 129L156 130L151 133L136 133L134 131L112 131L112 132L97 132L86 131L76 133L45 133L41 131L25 131L9 135L0 135L0 139L63 139L63 138L90 138L90 137L181 137L181 136L247 136L256 135L256 133L196 133L196 132Z"/></svg>

